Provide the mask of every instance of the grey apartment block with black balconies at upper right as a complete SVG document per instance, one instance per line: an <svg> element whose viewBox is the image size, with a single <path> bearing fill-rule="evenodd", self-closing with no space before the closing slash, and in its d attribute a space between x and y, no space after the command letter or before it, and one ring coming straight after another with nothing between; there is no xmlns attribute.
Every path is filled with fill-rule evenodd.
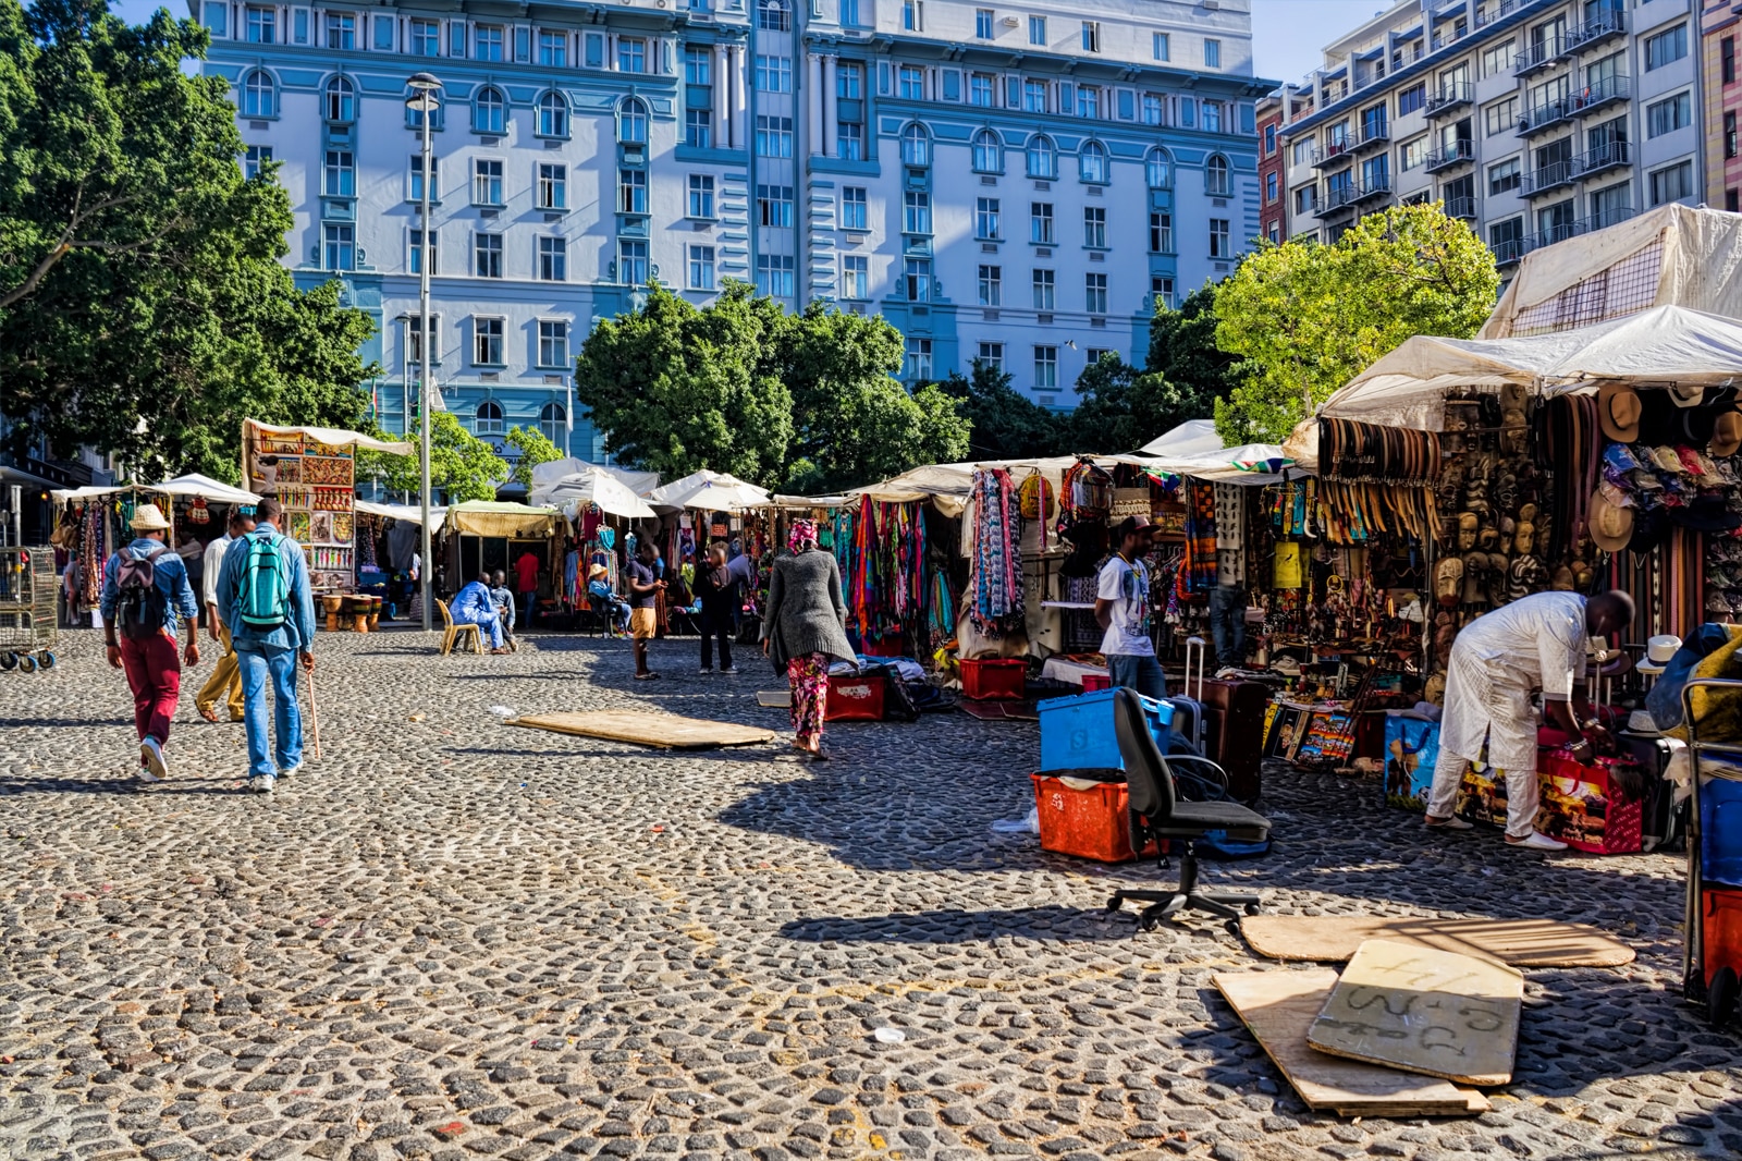
<svg viewBox="0 0 1742 1161"><path fill-rule="evenodd" d="M1442 200L1505 267L1705 197L1691 0L1399 0L1326 49L1282 129L1289 235Z"/></svg>

